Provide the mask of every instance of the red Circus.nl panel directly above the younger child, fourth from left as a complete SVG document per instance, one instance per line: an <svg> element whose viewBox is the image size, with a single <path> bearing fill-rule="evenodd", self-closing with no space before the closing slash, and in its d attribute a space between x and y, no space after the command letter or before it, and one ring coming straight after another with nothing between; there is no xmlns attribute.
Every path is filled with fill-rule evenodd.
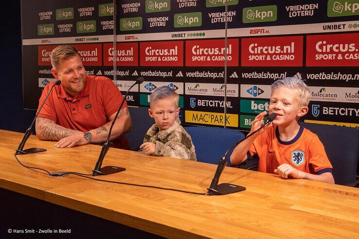
<svg viewBox="0 0 359 239"><path fill-rule="evenodd" d="M140 66L183 66L183 41L140 43Z"/></svg>

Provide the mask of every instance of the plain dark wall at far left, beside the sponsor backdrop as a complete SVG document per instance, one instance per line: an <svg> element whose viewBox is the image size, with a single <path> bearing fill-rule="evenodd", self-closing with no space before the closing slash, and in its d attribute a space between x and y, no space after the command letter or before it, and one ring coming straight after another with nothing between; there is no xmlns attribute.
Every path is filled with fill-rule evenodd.
<svg viewBox="0 0 359 239"><path fill-rule="evenodd" d="M0 2L0 129L24 132L35 112L23 109L20 0Z"/></svg>

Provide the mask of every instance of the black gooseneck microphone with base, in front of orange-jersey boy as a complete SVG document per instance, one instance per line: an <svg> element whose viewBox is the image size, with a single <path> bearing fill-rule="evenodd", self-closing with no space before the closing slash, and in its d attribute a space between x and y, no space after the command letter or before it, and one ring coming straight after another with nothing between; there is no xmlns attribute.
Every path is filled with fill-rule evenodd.
<svg viewBox="0 0 359 239"><path fill-rule="evenodd" d="M234 192L240 192L243 190L246 190L246 188L242 187L242 186L238 186L238 185L233 185L233 184L228 184L228 183L223 183L218 185L218 181L219 181L219 177L222 174L222 171L224 170L224 167L227 165L227 154L234 148L236 147L238 144L240 144L241 142L243 142L244 140L246 140L247 138L251 137L252 135L254 135L255 133L257 133L260 129L262 129L265 125L267 125L269 122L273 121L275 118L277 117L277 115L275 113L271 113L268 118L267 121L257 130L255 130L253 133L247 135L246 137L244 137L242 140L240 140L239 142L236 142L235 144L233 144L225 154L223 154L222 158L219 160L218 162L218 166L217 169L215 171L215 176L212 179L211 185L207 191L207 194L212 196L212 195L226 195L226 194L230 194L230 193L234 193Z"/></svg>

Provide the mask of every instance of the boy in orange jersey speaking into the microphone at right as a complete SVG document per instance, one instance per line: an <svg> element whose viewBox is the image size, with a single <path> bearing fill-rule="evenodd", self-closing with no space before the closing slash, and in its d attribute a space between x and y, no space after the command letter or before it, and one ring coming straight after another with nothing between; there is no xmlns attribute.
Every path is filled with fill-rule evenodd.
<svg viewBox="0 0 359 239"><path fill-rule="evenodd" d="M334 183L332 165L318 136L298 124L308 112L310 92L297 78L275 81L271 86L269 114L277 117L247 140L240 143L231 155L233 165L253 155L259 157L258 171L277 173L282 178L304 178ZM252 121L251 132L263 125L267 112Z"/></svg>

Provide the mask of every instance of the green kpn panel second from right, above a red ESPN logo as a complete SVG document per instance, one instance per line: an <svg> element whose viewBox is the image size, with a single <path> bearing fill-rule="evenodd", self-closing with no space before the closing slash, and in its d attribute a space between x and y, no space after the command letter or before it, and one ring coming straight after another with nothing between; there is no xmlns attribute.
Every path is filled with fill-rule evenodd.
<svg viewBox="0 0 359 239"><path fill-rule="evenodd" d="M266 22L277 20L277 5L245 7L242 15L243 23Z"/></svg>

